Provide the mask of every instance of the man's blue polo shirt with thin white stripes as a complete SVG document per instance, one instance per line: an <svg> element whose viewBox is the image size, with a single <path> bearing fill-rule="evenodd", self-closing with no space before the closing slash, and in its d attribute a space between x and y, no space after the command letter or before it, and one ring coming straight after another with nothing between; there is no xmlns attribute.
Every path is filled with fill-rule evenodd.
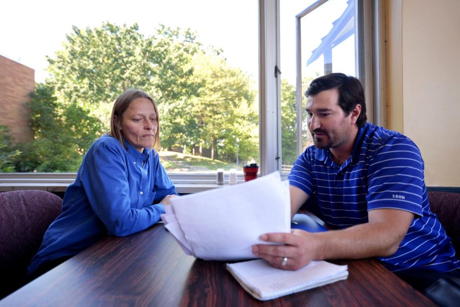
<svg viewBox="0 0 460 307"><path fill-rule="evenodd" d="M334 229L366 223L373 209L412 212L415 218L396 253L377 258L389 270L460 270L451 240L430 210L420 150L406 136L366 123L341 166L329 149L311 146L294 162L288 179L314 195L324 221Z"/></svg>

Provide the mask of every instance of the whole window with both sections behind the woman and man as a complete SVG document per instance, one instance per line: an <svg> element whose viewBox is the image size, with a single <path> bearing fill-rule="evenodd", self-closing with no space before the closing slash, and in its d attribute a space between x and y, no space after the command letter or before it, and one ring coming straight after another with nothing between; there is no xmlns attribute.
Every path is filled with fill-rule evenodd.
<svg viewBox="0 0 460 307"><path fill-rule="evenodd" d="M297 100L301 102L310 79L331 69L358 76L366 87L368 105L376 97L374 91L378 86L373 87L376 80L370 78L372 65L363 65L364 56L370 55L369 44L363 41L371 32L366 30L371 27L363 25L364 12L374 14L367 1L241 0L228 3L176 0L162 3L169 4L168 8L146 1L133 4L133 10L128 10L130 5L122 1L105 4L88 1L87 4L83 1L71 9L51 0L34 2L28 10L40 16L34 25L25 22L25 29L17 25L15 28L25 32L12 37L4 36L7 31L2 32L2 41L10 43L0 46L0 54L26 66L30 65L26 55L15 52L32 49L36 57L43 46L51 46L42 56L51 58L51 79L54 81L47 83L41 68L34 67L36 81L42 83L37 85L39 97L36 99L47 99L47 104L36 104L38 107L33 113L36 116L33 128L42 133L41 140L37 141L35 136L37 147L29 151L27 146L13 148L8 131L0 130L2 144L7 145L0 148L0 154L8 154L10 162L19 161L0 165L1 172L20 172L21 168L28 172L75 172L88 144L107 128L101 126L98 119L107 122L111 103L122 91L122 85L144 88L157 99L162 115L160 141L163 150L160 156L176 183L213 183L217 168L239 167L241 174L242 164L250 159L260 163L261 175L280 170L286 175L297 155L309 145L310 136L303 125L305 116L302 116L305 101L301 104ZM22 12L20 2L10 2L8 6L7 15L14 17ZM88 12L87 7L93 9ZM124 14L114 18L117 7ZM73 21L80 15L97 18L92 23ZM370 22L372 18L367 19L366 22ZM62 20L70 20L76 28L57 27ZM0 22L5 28L4 22L15 24L16 21L3 18ZM300 26L297 29L296 22ZM45 29L25 39L28 32L39 30L41 23ZM199 26L194 28L194 25ZM187 32L187 28L191 31ZM50 31L57 30L62 30L58 43L42 41L44 36L51 36ZM21 37L21 43L27 41L29 45L17 44L19 49L11 49L18 41L17 36ZM80 45L73 45L78 39ZM114 43L117 39L119 44ZM111 57L101 53L107 46L117 46L109 49ZM81 61L80 70L74 66L60 66L68 62L68 56L83 51L94 61L102 62L102 67L118 67L118 79L108 68L103 74L94 74L98 69L89 61ZM125 55L128 57L124 58ZM149 61L155 57L160 60ZM130 66L130 63L137 66ZM45 61L43 66L42 59L40 67L48 64ZM145 69L146 66L150 69ZM149 79L143 83L139 81L142 78L134 78L131 83L123 84L128 79L124 75L129 73L127 68L137 69L135 71L140 73L135 76L147 75ZM72 82L83 86L74 86ZM100 84L110 88L106 91L109 95L101 95ZM50 92L58 93L50 97ZM372 118L372 114L368 117ZM59 124L52 122L56 118L60 124L65 124L59 127L68 129L70 138L63 138L62 131L53 126ZM45 121L51 121L52 125L44 127ZM0 125L4 125L3 122ZM67 146L66 151L42 157L53 153L59 142ZM79 159L68 156L69 151ZM40 168L33 168L37 165ZM47 173L38 176L55 178L55 182L56 178L68 180L73 175ZM6 178L5 174L1 177ZM24 178L24 175L16 174L14 178Z"/></svg>

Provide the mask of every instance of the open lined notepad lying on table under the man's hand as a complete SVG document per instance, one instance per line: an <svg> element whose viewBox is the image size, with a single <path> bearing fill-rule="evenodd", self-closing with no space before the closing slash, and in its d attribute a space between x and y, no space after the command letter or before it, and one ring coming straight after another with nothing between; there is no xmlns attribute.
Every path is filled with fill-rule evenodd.
<svg viewBox="0 0 460 307"><path fill-rule="evenodd" d="M347 279L348 267L326 261L312 261L297 271L287 271L270 266L262 259L227 264L227 270L250 295L259 300L332 284Z"/></svg>

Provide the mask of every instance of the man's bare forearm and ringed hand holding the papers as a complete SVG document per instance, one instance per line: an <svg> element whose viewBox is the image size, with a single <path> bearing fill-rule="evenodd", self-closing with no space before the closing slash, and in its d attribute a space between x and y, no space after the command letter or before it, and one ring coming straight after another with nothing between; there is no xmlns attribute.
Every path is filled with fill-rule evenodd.
<svg viewBox="0 0 460 307"><path fill-rule="evenodd" d="M413 218L412 212L398 209L370 210L369 222L341 230L263 234L261 240L281 245L254 245L252 253L288 270L300 269L312 260L385 257L397 251Z"/></svg>

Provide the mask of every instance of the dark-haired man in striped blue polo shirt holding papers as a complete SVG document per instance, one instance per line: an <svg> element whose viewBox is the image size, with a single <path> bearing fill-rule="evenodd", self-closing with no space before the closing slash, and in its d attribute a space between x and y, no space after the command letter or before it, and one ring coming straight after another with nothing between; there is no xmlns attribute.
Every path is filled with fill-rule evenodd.
<svg viewBox="0 0 460 307"><path fill-rule="evenodd" d="M366 123L364 90L354 77L316 78L306 96L314 146L288 177L291 212L314 197L336 230L264 234L262 240L285 245L255 245L254 254L290 270L312 260L377 257L421 291L441 277L460 277L451 240L430 211L417 146Z"/></svg>

